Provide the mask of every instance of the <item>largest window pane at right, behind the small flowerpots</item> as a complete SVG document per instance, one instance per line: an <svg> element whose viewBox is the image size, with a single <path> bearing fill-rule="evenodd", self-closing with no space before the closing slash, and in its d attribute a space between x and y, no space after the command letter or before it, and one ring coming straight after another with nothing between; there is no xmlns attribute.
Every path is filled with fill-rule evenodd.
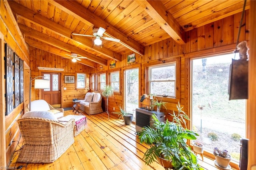
<svg viewBox="0 0 256 170"><path fill-rule="evenodd" d="M229 100L228 81L234 54L192 60L192 127L204 150L226 149L239 161L240 137L246 137L246 100ZM193 141L192 141L193 143Z"/></svg>

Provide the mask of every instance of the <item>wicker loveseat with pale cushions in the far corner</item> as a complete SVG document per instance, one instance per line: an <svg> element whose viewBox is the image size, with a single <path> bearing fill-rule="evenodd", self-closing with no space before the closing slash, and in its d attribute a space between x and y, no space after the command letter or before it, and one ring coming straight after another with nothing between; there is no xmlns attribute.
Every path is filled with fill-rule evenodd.
<svg viewBox="0 0 256 170"><path fill-rule="evenodd" d="M88 94L93 94L92 101L91 102L86 102L86 97ZM87 115L93 115L97 113L102 113L102 107L101 107L101 102L102 102L102 96L100 93L86 93L85 99L80 100L80 108L82 111L84 111Z"/></svg>

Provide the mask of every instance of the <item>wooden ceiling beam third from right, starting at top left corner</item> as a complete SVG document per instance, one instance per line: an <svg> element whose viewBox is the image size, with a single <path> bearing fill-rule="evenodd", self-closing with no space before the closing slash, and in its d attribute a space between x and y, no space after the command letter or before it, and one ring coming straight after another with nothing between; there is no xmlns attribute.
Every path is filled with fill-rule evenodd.
<svg viewBox="0 0 256 170"><path fill-rule="evenodd" d="M71 38L71 34L72 34L72 30L61 26L60 24L38 14L37 12L34 12L14 1L8 1L12 12L17 15L18 17L24 18L25 20L28 20L34 24L40 25L42 28L50 30L51 32L54 32L60 36L63 36L65 38L68 38L68 40L70 41L75 41L76 43L82 43L84 44L86 47L88 47L88 49L91 49L97 53L100 53L102 55L105 55L106 57L109 57L110 59L114 59L117 61L121 61L121 54L118 54L114 51L111 51L110 49L106 48L106 47L98 47L98 46L94 46L92 41L89 40L88 38L84 38L84 37L78 37L78 36L72 36ZM26 11L26 12L24 12Z"/></svg>

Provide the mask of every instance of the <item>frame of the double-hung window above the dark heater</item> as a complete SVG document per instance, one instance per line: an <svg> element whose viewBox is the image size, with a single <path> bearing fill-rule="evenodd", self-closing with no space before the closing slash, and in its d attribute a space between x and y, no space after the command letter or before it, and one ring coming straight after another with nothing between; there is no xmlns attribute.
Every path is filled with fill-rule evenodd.
<svg viewBox="0 0 256 170"><path fill-rule="evenodd" d="M178 77L178 75L177 75L177 73L178 73L178 68L177 68L177 65L178 65L179 63L177 62L177 61L172 61L172 62L168 62L168 63L165 63L165 64L157 64L157 65L150 65L150 66L148 66L148 94L150 94L151 93L151 83L152 82L174 82L174 96L168 96L167 98L172 98L172 99L177 99L177 94L178 94L178 91L177 91L177 77ZM174 67L175 67L175 73L174 73L174 75L175 75L175 77L174 77L174 80L168 80L168 81L152 81L152 69L154 69L154 68L161 68L161 67L168 67L168 66L172 66L172 65L174 65ZM162 96L162 95L160 95L160 94L157 94L157 96Z"/></svg>

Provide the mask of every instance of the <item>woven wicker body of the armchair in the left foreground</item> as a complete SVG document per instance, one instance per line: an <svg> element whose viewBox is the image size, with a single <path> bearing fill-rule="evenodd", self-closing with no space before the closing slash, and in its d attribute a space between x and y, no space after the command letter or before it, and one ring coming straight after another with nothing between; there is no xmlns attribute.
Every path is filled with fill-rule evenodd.
<svg viewBox="0 0 256 170"><path fill-rule="evenodd" d="M54 162L74 143L74 119L60 123L40 117L18 120L24 145L17 162Z"/></svg>

